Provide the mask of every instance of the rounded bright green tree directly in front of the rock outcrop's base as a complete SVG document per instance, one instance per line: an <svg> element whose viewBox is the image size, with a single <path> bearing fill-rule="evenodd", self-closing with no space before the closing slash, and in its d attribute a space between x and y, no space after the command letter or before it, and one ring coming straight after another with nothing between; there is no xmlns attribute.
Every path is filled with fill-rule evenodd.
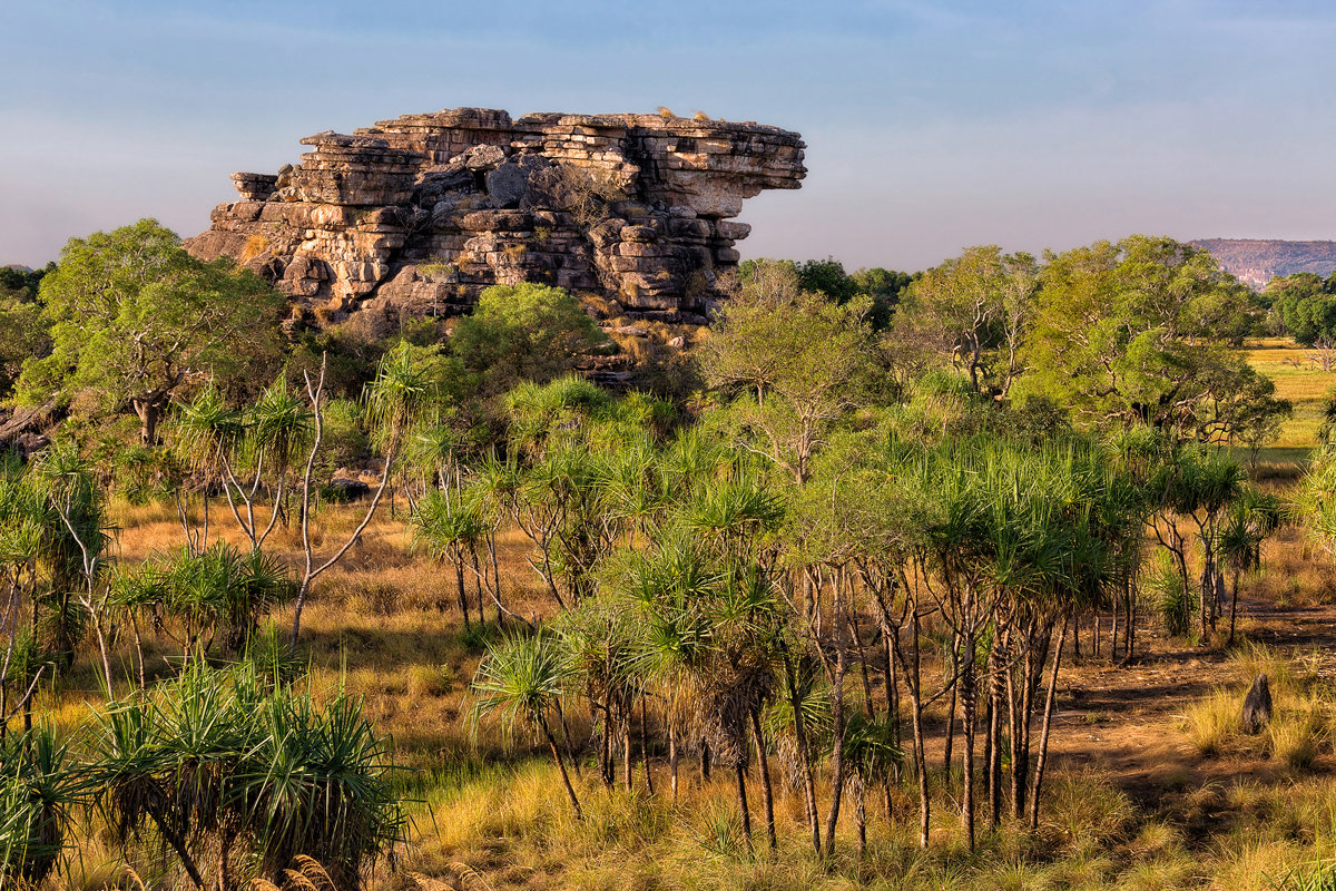
<svg viewBox="0 0 1336 891"><path fill-rule="evenodd" d="M560 287L493 285L460 319L450 350L498 393L520 381L545 383L572 370L608 338Z"/></svg>

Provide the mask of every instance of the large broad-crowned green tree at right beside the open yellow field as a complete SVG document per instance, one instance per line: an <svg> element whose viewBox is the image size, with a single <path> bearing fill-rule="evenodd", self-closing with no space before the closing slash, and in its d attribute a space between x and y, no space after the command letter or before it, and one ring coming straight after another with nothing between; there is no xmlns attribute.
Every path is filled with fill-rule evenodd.
<svg viewBox="0 0 1336 891"><path fill-rule="evenodd" d="M1082 427L1221 441L1259 422L1253 407L1275 387L1229 349L1252 330L1253 301L1209 254L1133 235L1046 260L1022 394L1070 406Z"/></svg>

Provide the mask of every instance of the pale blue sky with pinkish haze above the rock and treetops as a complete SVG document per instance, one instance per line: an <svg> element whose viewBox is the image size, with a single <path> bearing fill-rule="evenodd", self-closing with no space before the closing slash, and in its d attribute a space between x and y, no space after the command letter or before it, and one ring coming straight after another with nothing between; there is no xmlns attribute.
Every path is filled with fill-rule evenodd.
<svg viewBox="0 0 1336 891"><path fill-rule="evenodd" d="M1332 47L1299 0L0 0L0 264L194 235L302 136L461 106L799 131L744 256L1336 239Z"/></svg>

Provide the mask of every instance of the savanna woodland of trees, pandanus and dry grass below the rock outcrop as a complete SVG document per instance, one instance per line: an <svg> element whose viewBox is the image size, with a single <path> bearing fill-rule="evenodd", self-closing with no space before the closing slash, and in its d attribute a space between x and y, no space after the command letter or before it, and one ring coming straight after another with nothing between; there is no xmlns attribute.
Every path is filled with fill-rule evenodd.
<svg viewBox="0 0 1336 891"><path fill-rule="evenodd" d="M0 289L3 887L1336 882L1331 279L306 327L142 220Z"/></svg>

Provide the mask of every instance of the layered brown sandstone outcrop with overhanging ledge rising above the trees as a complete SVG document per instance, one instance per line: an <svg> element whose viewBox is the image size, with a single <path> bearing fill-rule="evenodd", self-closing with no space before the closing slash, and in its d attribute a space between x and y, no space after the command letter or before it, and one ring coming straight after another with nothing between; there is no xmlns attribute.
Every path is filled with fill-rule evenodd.
<svg viewBox="0 0 1336 891"><path fill-rule="evenodd" d="M277 175L232 174L196 256L228 255L305 310L444 315L540 282L704 321L764 188L798 188L798 134L661 115L457 108L307 136Z"/></svg>

